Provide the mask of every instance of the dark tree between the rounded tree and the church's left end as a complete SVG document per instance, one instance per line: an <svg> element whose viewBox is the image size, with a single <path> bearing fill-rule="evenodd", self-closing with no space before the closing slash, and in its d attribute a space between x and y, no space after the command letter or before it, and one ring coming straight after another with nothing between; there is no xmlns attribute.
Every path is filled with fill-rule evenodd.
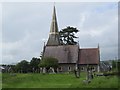
<svg viewBox="0 0 120 90"><path fill-rule="evenodd" d="M40 63L40 58L35 58L35 57L32 58L32 60L30 61L30 67L31 67L32 72L38 71L39 63Z"/></svg>

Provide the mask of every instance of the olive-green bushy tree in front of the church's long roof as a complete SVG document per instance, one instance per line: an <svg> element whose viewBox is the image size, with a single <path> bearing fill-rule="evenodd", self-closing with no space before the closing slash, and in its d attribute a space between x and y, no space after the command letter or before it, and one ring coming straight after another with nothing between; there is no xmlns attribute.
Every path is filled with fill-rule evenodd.
<svg viewBox="0 0 120 90"><path fill-rule="evenodd" d="M41 60L40 67L45 67L47 71L50 69L50 67L57 69L58 67L58 60L53 57L45 57Z"/></svg>

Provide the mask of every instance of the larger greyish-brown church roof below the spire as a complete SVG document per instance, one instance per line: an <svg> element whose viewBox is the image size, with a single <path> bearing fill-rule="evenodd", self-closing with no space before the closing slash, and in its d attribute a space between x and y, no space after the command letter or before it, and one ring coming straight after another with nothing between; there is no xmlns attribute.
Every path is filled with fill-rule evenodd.
<svg viewBox="0 0 120 90"><path fill-rule="evenodd" d="M57 58L59 63L76 63L78 52L78 45L46 46L44 57Z"/></svg>

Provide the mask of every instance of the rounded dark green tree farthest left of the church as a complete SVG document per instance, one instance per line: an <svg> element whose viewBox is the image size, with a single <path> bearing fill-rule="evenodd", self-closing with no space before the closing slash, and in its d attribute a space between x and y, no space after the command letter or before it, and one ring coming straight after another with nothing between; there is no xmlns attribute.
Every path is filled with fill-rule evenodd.
<svg viewBox="0 0 120 90"><path fill-rule="evenodd" d="M26 60L22 60L16 65L16 69L18 72L27 73L30 70L29 62Z"/></svg>

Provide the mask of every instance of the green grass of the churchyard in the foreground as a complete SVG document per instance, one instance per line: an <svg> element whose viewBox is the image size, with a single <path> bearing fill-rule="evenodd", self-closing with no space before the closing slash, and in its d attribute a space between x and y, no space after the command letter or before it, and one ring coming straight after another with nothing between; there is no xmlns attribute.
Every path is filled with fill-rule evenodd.
<svg viewBox="0 0 120 90"><path fill-rule="evenodd" d="M91 83L86 84L83 80L86 74L80 78L74 74L10 74L2 75L2 88L117 88L117 76L97 77Z"/></svg>

